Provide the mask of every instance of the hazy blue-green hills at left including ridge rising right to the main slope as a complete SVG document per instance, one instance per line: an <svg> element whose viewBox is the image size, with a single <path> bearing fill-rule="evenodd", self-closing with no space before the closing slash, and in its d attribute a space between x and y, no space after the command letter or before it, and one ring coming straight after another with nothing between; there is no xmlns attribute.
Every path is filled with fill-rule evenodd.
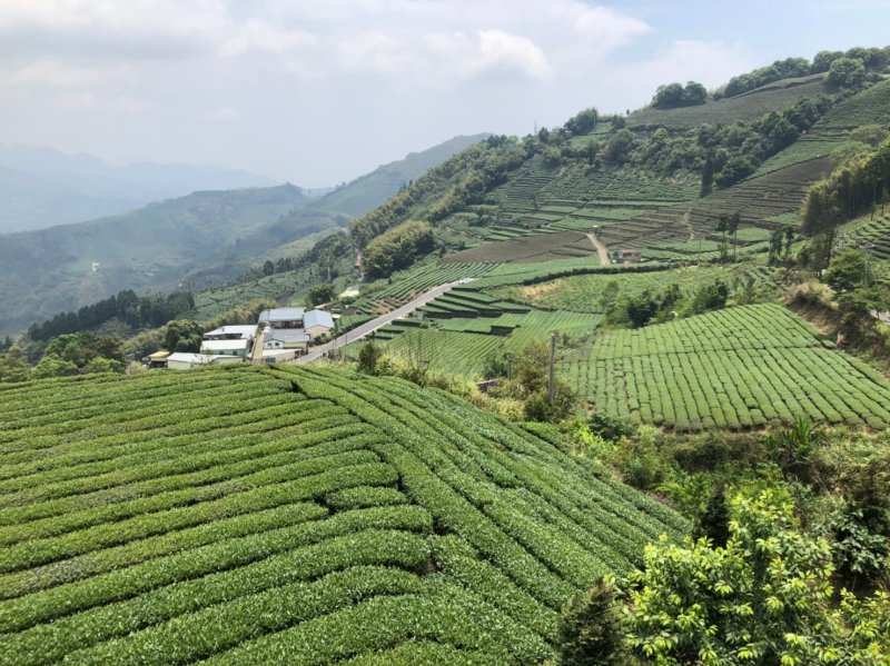
<svg viewBox="0 0 890 666"><path fill-rule="evenodd" d="M345 227L474 140L456 137L411 153L322 197L289 183L204 189L121 215L2 236L0 332L121 289L230 282L268 256L298 252L301 239Z"/></svg>

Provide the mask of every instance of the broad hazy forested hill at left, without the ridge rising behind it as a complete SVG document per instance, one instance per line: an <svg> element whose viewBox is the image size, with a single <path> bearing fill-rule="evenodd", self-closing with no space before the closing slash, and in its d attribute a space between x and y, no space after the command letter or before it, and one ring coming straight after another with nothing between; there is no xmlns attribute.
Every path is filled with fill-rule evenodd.
<svg viewBox="0 0 890 666"><path fill-rule="evenodd" d="M237 264L295 237L334 226L294 222L299 188L195 192L78 225L11 233L0 243L0 330L14 330L120 289L172 289L206 265Z"/></svg>

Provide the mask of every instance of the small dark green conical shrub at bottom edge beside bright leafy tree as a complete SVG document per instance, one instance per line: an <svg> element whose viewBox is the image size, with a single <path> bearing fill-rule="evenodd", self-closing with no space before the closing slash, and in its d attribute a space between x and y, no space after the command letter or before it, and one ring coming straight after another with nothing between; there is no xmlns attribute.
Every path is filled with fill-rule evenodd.
<svg viewBox="0 0 890 666"><path fill-rule="evenodd" d="M558 664L565 666L622 666L626 664L617 589L601 579L575 595L560 617Z"/></svg>

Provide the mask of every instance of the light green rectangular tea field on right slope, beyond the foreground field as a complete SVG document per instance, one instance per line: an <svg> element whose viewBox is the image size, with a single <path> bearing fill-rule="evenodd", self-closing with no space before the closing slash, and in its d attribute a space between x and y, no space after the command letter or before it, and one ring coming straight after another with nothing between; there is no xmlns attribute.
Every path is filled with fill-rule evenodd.
<svg viewBox="0 0 890 666"><path fill-rule="evenodd" d="M800 417L890 426L890 382L778 305L605 334L563 377L600 411L684 431Z"/></svg>

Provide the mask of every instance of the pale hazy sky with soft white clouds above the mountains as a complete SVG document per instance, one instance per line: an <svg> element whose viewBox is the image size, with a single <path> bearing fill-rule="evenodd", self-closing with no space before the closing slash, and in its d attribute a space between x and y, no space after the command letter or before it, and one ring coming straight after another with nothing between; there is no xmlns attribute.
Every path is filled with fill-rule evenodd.
<svg viewBox="0 0 890 666"><path fill-rule="evenodd" d="M888 26L890 0L0 0L0 142L319 187Z"/></svg>

